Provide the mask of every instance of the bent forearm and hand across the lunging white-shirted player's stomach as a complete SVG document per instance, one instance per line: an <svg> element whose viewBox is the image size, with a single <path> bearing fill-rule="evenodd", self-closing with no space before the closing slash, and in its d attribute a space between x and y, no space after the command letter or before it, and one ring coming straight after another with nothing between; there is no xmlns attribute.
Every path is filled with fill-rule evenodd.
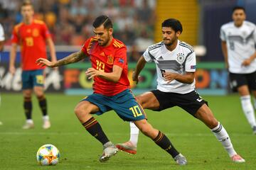
<svg viewBox="0 0 256 170"><path fill-rule="evenodd" d="M163 75L164 75L164 80L167 81L167 83L175 79L176 81L179 81L183 84L191 84L193 83L193 80L195 78L194 72L186 72L186 74L163 72Z"/></svg>

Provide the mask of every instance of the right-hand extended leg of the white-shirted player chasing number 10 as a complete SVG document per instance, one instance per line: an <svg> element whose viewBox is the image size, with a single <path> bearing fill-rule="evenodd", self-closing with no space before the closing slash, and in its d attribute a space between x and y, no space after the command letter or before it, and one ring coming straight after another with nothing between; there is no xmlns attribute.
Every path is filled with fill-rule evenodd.
<svg viewBox="0 0 256 170"><path fill-rule="evenodd" d="M221 125L218 120L215 119L212 111L210 111L210 108L206 105L206 103L204 103L203 106L198 109L195 116L205 123L208 128L210 128L218 141L222 143L233 162L245 162L245 159L242 159L242 157L235 152L228 132L225 130L223 125Z"/></svg>

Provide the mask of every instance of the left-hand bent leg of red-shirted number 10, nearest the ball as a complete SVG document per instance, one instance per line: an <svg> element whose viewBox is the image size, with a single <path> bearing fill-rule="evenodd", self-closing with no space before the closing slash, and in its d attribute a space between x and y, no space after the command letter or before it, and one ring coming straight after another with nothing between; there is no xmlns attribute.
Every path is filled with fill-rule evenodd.
<svg viewBox="0 0 256 170"><path fill-rule="evenodd" d="M104 106L101 106L101 109L103 107ZM110 159L112 155L116 154L118 149L107 138L107 135L105 135L105 132L102 130L100 123L92 117L92 113L97 113L99 111L100 108L89 101L80 101L80 103L75 106L75 115L78 120L80 120L80 123L82 123L82 126L90 133L90 135L102 143L103 154L100 157L100 162L105 162Z"/></svg>

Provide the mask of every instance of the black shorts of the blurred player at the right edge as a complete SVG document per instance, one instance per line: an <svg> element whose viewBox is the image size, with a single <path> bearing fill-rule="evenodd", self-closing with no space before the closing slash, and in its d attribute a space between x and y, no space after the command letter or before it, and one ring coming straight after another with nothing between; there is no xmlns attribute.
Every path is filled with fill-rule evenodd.
<svg viewBox="0 0 256 170"><path fill-rule="evenodd" d="M238 91L238 87L247 85L250 90L256 90L256 72L249 74L229 73L230 88L233 91Z"/></svg>

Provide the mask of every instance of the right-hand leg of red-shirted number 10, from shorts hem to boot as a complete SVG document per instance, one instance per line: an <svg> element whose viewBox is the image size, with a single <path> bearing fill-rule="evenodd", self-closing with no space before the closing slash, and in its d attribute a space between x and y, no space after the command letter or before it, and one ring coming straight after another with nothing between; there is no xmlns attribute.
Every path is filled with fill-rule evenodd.
<svg viewBox="0 0 256 170"><path fill-rule="evenodd" d="M160 132L159 130L154 129L146 121L146 119L134 121L134 124L137 125L139 130L144 135L146 135L147 137L150 137L151 140L154 140L156 145L159 145L159 147L161 147L166 152L171 154L171 157L174 158L177 164L180 164L180 165L187 164L186 158L175 149L174 145L171 144L171 141L169 140L169 138L166 137L166 135L164 135L163 132Z"/></svg>

